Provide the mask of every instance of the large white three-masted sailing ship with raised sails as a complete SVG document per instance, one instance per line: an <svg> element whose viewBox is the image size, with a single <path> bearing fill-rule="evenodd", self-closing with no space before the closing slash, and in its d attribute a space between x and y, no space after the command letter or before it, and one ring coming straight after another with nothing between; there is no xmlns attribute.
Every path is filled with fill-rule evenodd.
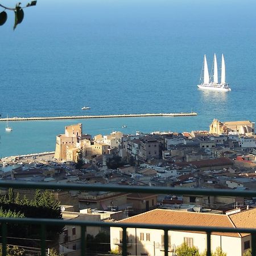
<svg viewBox="0 0 256 256"><path fill-rule="evenodd" d="M221 82L218 82L218 67L217 67L217 59L216 54L214 53L214 59L213 59L213 79L210 79L209 72L208 72L208 65L207 65L207 59L204 55L204 65L201 72L200 82L202 80L202 74L204 70L204 81L197 85L199 89L204 90L218 90L221 92L228 92L231 90L229 88L229 84L226 83L226 70L225 70L225 60L224 56L222 54L221 57Z"/></svg>

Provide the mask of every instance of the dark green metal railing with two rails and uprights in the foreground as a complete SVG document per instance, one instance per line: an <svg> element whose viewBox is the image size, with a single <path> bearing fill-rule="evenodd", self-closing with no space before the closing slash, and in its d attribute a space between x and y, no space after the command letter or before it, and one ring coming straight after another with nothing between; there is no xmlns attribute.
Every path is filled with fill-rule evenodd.
<svg viewBox="0 0 256 256"><path fill-rule="evenodd" d="M108 191L108 192L140 192L154 194L175 194L175 195L207 195L207 196L243 196L255 197L256 191L235 191L232 189L196 189L196 188L172 188L172 187L141 187L128 185L87 185L87 184L49 184L49 183L19 183L13 181L0 181L0 188L30 188L30 189L63 189L67 191ZM253 228L226 228L208 226L181 226L181 225L151 225L151 224L129 224L121 222L101 222L101 221L75 221L56 220L49 218L0 218L2 234L2 255L6 256L7 248L7 224L34 224L41 226L41 255L46 256L46 226L49 225L73 225L81 227L81 256L86 254L86 227L94 226L101 228L119 227L122 228L122 255L127 255L127 229L144 228L158 229L164 232L164 256L168 256L170 251L168 241L169 230L185 230L204 232L207 234L207 256L210 256L210 236L213 232L222 233L249 233L251 234L251 255L256 255L256 229Z"/></svg>

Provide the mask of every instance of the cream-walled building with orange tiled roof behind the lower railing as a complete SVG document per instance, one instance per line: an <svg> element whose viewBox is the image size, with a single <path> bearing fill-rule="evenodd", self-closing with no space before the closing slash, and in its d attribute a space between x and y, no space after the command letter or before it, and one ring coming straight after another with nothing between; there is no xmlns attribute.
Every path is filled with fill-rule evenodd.
<svg viewBox="0 0 256 256"><path fill-rule="evenodd" d="M255 219L256 208L229 215L155 209L126 218L119 223L256 228ZM130 255L164 255L163 230L127 228L127 238L127 252ZM183 242L186 242L188 246L196 246L200 253L207 249L205 233L170 230L168 232L168 255L173 255L175 248ZM112 250L122 249L121 228L110 228L110 243ZM242 256L251 247L251 236L241 233L213 232L211 249L214 251L217 247L221 247L227 256Z"/></svg>

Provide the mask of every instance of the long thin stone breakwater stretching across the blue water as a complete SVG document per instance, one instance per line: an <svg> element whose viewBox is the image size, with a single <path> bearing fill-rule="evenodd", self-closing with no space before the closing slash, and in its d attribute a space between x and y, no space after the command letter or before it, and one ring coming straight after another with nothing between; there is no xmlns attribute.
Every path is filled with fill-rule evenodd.
<svg viewBox="0 0 256 256"><path fill-rule="evenodd" d="M115 114L115 115L72 115L67 117L9 117L9 121L31 121L31 120L55 120L55 119L82 119L82 118L115 118L115 117L185 117L197 115L191 113L156 113L156 114ZM7 121L7 118L0 118L0 121Z"/></svg>

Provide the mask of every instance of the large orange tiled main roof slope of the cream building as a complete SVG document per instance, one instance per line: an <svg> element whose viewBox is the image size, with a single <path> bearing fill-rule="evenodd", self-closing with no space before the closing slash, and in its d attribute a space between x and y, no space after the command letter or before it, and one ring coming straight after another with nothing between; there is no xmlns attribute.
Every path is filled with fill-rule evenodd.
<svg viewBox="0 0 256 256"><path fill-rule="evenodd" d="M233 228L234 224L228 215L213 213L180 212L177 210L155 209L149 212L121 220L122 223L141 223L141 224L165 224L183 226L222 226ZM203 233L187 231L193 233ZM241 237L239 233L213 232L221 236Z"/></svg>

